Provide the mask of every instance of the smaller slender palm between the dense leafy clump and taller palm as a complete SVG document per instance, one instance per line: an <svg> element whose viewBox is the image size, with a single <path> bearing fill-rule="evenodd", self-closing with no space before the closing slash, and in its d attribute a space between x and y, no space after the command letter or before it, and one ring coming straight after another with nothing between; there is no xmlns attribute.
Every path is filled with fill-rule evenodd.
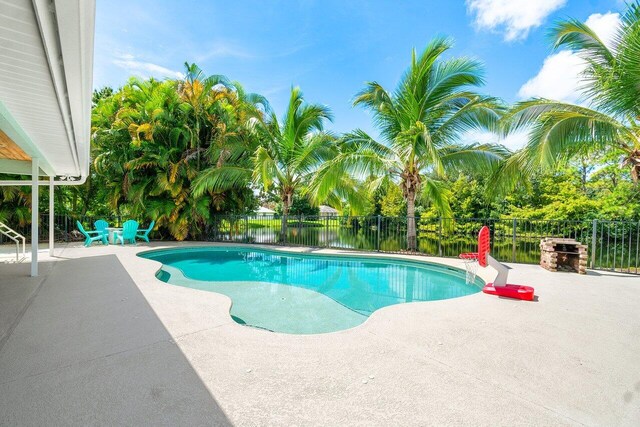
<svg viewBox="0 0 640 427"><path fill-rule="evenodd" d="M284 239L293 196L302 194L314 172L335 154L334 138L323 130L324 121L331 119L328 107L305 103L300 88L292 88L282 122L270 113L268 120L257 125L260 145L251 164L222 165L203 172L194 182L194 194L242 185L250 177L280 197Z"/></svg>

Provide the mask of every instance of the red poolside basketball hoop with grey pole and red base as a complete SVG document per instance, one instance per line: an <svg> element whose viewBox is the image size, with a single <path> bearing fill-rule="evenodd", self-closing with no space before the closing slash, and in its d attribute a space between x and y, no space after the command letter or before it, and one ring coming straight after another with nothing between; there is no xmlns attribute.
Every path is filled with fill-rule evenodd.
<svg viewBox="0 0 640 427"><path fill-rule="evenodd" d="M460 254L460 258L462 259L477 258L478 264L481 267L490 265L498 272L498 275L496 276L493 283L487 283L487 285L482 288L482 292L484 292L485 294L498 295L506 298L533 301L534 289L531 286L507 284L509 268L489 255L490 249L491 236L489 234L489 227L485 225L480 229L480 233L478 234L478 252Z"/></svg>

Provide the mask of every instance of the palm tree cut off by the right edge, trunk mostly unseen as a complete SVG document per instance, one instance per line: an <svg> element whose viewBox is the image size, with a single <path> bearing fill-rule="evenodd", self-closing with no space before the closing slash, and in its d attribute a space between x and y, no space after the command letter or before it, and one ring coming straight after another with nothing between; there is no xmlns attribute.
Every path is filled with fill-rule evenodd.
<svg viewBox="0 0 640 427"><path fill-rule="evenodd" d="M586 62L581 75L585 103L548 99L516 104L504 117L508 132L527 130L525 147L501 167L505 190L539 169L566 164L574 156L614 150L634 182L640 177L640 2L629 5L607 46L575 19L552 28L554 47L566 47Z"/></svg>

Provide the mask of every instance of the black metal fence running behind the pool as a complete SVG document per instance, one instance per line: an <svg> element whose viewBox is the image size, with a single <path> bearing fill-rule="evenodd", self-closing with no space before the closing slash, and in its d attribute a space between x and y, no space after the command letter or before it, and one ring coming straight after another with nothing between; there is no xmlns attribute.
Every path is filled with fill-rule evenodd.
<svg viewBox="0 0 640 427"><path fill-rule="evenodd" d="M99 218L54 217L57 241L83 240L76 220L91 228ZM128 218L105 218L118 226ZM40 239L47 240L48 216L40 221ZM11 226L11 224L9 224ZM417 252L425 255L457 257L475 252L478 231L491 230L493 256L504 262L537 264L540 240L545 237L574 238L589 247L589 267L640 274L640 221L556 221L484 218L416 218ZM13 227L28 236L30 228ZM406 252L407 218L383 216L289 216L286 233L282 218L269 216L219 215L204 232L204 240L214 242L260 243L267 245L311 246L359 251ZM153 234L151 235L153 237ZM3 243L0 235L0 243Z"/></svg>

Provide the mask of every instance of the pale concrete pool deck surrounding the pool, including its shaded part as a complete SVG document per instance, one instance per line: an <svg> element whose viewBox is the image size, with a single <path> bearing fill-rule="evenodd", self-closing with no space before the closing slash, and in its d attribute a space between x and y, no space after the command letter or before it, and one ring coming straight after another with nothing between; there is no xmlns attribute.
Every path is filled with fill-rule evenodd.
<svg viewBox="0 0 640 427"><path fill-rule="evenodd" d="M478 293L285 335L236 324L227 297L160 282L135 256L178 246L194 244L70 244L38 278L0 264L1 425L640 420L638 276L514 264L537 302Z"/></svg>

